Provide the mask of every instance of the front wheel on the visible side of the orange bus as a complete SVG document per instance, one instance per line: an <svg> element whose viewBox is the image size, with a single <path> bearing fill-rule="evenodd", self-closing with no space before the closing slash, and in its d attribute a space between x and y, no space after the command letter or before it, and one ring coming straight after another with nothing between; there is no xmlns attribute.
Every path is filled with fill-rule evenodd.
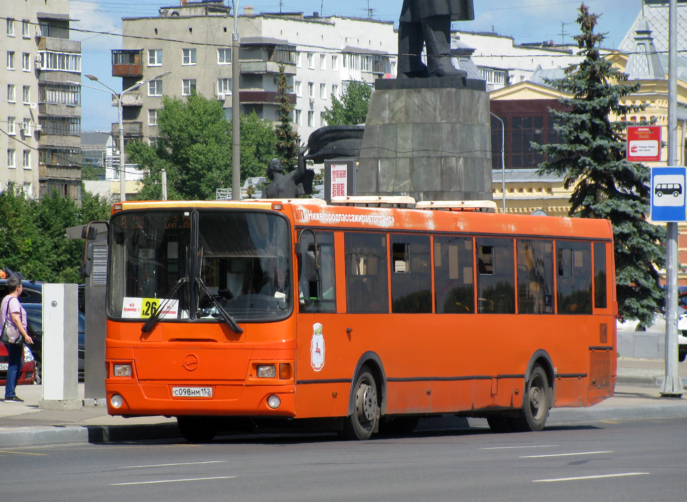
<svg viewBox="0 0 687 502"><path fill-rule="evenodd" d="M379 422L377 385L368 367L363 366L355 379L354 410L343 421L343 437L346 439L370 439Z"/></svg>

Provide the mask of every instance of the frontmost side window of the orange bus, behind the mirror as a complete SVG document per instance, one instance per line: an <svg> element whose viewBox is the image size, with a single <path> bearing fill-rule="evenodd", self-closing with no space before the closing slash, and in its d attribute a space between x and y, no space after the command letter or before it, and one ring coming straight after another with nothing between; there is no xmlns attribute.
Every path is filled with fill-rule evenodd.
<svg viewBox="0 0 687 502"><path fill-rule="evenodd" d="M315 271L315 242L313 234L303 232L301 249L304 256L299 257L298 303L299 312L337 312L334 234L315 232L317 235L317 263Z"/></svg>

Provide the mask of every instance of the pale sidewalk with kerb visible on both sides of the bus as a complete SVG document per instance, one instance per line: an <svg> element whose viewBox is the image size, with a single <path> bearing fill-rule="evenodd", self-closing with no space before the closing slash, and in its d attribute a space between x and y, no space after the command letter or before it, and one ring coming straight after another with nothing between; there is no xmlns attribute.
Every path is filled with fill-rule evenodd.
<svg viewBox="0 0 687 502"><path fill-rule="evenodd" d="M620 358L613 397L591 408L553 409L547 424L687 417L687 392L682 399L660 397L664 371L662 360ZM687 388L687 362L679 364L679 374ZM84 386L79 384L80 400L83 392ZM16 393L25 402L0 402L0 448L179 437L174 418L111 417L105 406L48 410L38 406L43 393L40 385L18 386Z"/></svg>

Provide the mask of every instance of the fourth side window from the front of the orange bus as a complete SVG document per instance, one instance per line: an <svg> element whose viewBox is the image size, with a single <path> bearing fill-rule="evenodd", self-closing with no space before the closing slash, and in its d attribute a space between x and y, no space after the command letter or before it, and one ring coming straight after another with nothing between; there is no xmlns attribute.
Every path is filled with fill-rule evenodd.
<svg viewBox="0 0 687 502"><path fill-rule="evenodd" d="M473 314L472 239L434 237L434 301L437 314Z"/></svg>

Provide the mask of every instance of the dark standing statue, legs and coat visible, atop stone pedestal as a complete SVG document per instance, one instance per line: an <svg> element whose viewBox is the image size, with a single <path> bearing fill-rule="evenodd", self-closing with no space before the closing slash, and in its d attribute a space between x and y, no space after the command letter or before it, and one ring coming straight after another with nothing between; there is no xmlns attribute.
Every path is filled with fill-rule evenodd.
<svg viewBox="0 0 687 502"><path fill-rule="evenodd" d="M467 75L451 63L451 21L475 19L473 0L403 0L398 19L398 78ZM427 46L427 65L420 54Z"/></svg>

